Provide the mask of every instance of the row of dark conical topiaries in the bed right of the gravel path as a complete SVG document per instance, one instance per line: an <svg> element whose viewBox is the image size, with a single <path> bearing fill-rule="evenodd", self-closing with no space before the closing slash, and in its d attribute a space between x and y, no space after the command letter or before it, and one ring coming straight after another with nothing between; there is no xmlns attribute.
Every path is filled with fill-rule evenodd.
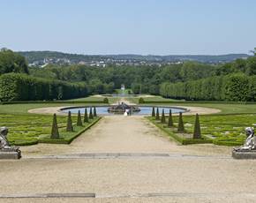
<svg viewBox="0 0 256 203"><path fill-rule="evenodd" d="M168 118L168 122L166 122L166 117L164 114L164 109L162 109L162 116L160 117L159 114L159 109L155 109L154 107L152 108L152 117L154 117L154 120L158 123L158 124L166 124L170 129L173 129L175 127L174 123L173 123L173 118L172 118L172 112L171 109L169 109L169 118ZM165 130L165 128L163 126L158 125L158 127L160 127L162 130L164 130L165 132L168 132ZM178 133L184 133L186 132L184 129L184 122L183 122L183 116L182 116L182 112L179 112L179 117L178 117L178 124L177 124L177 131L172 131L171 133L169 133L174 139L177 139L177 141L181 142L182 144L196 144L196 143L211 143L212 140L210 139L204 139L201 135L201 130L200 130L200 117L198 114L196 114L195 117L195 123L194 123L194 129L193 129L193 134L192 134L192 139L184 139L182 137L180 137L178 135Z"/></svg>

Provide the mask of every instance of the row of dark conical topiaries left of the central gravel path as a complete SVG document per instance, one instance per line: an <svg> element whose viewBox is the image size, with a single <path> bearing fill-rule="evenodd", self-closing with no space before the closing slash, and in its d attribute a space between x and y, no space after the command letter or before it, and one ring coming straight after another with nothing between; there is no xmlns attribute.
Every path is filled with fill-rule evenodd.
<svg viewBox="0 0 256 203"><path fill-rule="evenodd" d="M84 115L84 123L89 123L89 120L93 120L94 117L97 117L96 108L94 107L94 112L93 112L93 109L90 108L89 116L87 114L87 108L86 108L85 115ZM77 117L77 126L83 126L80 111L79 111L78 117ZM73 129L73 124L72 124L72 113L71 113L71 111L69 111L68 117L67 117L66 132L73 132L73 131L74 131L74 129ZM56 114L53 115L50 139L60 139L57 121L56 121Z"/></svg>

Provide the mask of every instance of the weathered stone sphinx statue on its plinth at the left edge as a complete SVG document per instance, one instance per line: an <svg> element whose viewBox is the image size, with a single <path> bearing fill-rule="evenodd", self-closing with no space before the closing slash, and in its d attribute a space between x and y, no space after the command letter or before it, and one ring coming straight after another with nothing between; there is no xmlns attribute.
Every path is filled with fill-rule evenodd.
<svg viewBox="0 0 256 203"><path fill-rule="evenodd" d="M15 155L14 157L17 157L19 159L21 157L21 152L19 150L19 147L10 146L10 143L7 139L7 134L8 134L8 128L1 127L0 128L0 152L2 153L1 155L4 156L3 153L15 153L17 155Z"/></svg>

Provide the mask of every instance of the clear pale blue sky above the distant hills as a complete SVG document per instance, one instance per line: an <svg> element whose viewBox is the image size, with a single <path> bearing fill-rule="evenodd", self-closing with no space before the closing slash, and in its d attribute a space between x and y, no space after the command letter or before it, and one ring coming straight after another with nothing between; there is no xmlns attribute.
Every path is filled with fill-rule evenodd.
<svg viewBox="0 0 256 203"><path fill-rule="evenodd" d="M0 47L227 54L256 47L255 0L0 0Z"/></svg>

